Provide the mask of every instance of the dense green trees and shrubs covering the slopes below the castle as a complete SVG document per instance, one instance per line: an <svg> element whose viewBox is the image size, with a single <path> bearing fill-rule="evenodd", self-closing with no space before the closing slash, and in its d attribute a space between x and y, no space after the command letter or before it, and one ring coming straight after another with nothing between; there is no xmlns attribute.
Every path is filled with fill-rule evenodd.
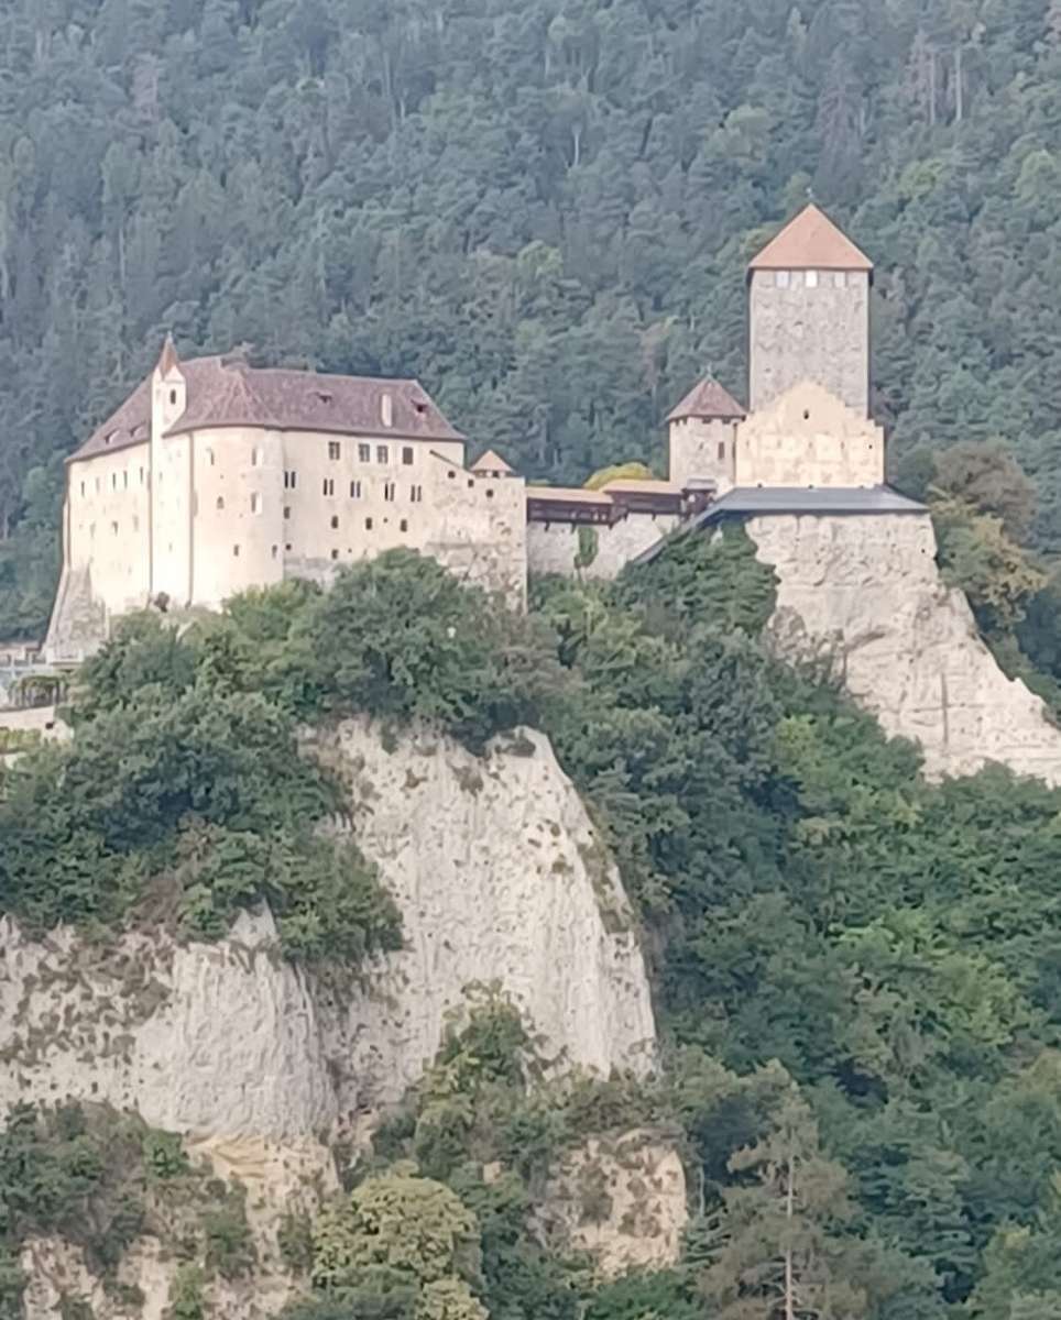
<svg viewBox="0 0 1061 1320"><path fill-rule="evenodd" d="M321 969L394 948L400 917L314 834L334 785L299 725L428 718L478 752L532 723L591 804L646 936L662 1076L544 1084L534 1023L484 987L346 1195L285 1226L285 1320L780 1320L786 1255L799 1320L1061 1313L1061 791L926 784L913 746L770 657L773 607L741 531L613 585L543 581L527 615L388 552L180 635L132 616L82 675L74 742L8 772L0 912L211 940L267 900ZM638 1125L677 1143L694 1216L674 1269L601 1284L532 1232L535 1188ZM160 1199L200 1196L188 1179L120 1115L16 1111L0 1316L28 1237L112 1267ZM606 1189L584 1195L600 1213ZM170 1315L205 1320L214 1274L252 1275L238 1199L197 1209L181 1251Z"/></svg>

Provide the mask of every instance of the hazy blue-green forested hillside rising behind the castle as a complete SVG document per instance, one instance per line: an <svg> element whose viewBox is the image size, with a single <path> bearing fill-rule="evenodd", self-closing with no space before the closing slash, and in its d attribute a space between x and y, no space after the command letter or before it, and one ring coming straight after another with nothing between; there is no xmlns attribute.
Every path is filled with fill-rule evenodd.
<svg viewBox="0 0 1061 1320"><path fill-rule="evenodd" d="M813 195L877 263L893 455L1002 438L1061 545L1057 0L9 0L0 630L62 457L182 351L416 375L581 479L744 380L743 267Z"/></svg>

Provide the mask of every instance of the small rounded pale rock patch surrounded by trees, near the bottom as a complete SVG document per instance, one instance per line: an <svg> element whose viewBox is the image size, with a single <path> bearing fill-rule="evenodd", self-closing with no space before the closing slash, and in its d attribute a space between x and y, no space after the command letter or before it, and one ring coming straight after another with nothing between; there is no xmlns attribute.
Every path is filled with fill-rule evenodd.
<svg viewBox="0 0 1061 1320"><path fill-rule="evenodd" d="M603 1278L674 1265L687 1222L682 1162L670 1140L647 1129L595 1137L568 1154L538 1210L542 1236L587 1251Z"/></svg>

